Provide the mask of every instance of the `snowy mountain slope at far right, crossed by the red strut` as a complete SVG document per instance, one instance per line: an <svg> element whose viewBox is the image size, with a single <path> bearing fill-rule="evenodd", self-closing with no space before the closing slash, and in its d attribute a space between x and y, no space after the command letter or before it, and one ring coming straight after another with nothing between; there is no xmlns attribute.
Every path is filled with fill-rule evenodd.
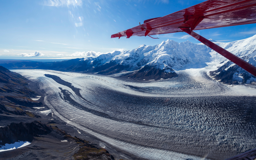
<svg viewBox="0 0 256 160"><path fill-rule="evenodd" d="M239 41L221 43L214 42L220 47L228 50L246 62L256 66L256 35ZM256 77L246 72L241 67L227 60L216 52L211 52L212 62L219 68L211 71L210 75L226 84L252 83Z"/></svg>

